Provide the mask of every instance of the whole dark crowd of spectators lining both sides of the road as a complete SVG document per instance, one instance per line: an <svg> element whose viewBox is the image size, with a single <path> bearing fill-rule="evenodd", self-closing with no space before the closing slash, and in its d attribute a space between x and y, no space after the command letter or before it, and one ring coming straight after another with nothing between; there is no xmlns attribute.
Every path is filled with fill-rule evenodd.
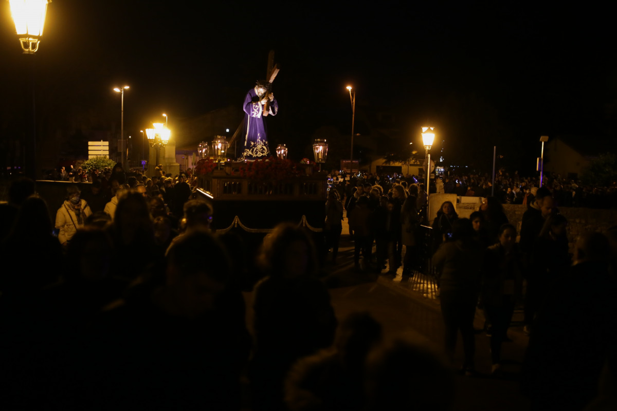
<svg viewBox="0 0 617 411"><path fill-rule="evenodd" d="M406 341L384 342L366 312L338 324L318 278L319 250L299 227L276 226L247 264L241 237L210 232L216 216L191 198L185 176L144 179L120 165L106 174L83 193L69 187L55 224L28 179L14 181L2 205L7 409L448 410L452 370L477 375L476 309L487 319L491 371L500 376L521 301L529 333L522 386L534 409L583 409L611 389L617 230L584 235L568 254L567 221L547 187L524 200L519 243L497 197L470 219L458 218L450 201L441 205L428 248L440 288L442 362ZM339 262L347 213L355 269L394 277L402 266L405 281L420 269L427 193L405 178L381 180L331 185L330 263ZM249 290L247 327L242 291ZM462 364L454 354L459 332Z"/></svg>

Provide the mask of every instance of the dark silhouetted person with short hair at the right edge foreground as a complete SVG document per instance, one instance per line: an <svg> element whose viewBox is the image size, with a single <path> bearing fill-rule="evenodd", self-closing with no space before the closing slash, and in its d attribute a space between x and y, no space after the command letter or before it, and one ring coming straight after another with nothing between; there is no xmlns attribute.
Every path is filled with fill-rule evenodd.
<svg viewBox="0 0 617 411"><path fill-rule="evenodd" d="M617 348L610 257L603 234L582 235L573 266L540 309L523 368L532 410L582 410L597 396L600 373Z"/></svg>

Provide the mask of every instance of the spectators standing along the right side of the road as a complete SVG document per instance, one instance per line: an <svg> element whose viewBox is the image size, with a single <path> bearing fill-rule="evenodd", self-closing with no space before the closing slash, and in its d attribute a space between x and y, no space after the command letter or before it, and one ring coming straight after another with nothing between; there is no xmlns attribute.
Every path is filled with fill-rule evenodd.
<svg viewBox="0 0 617 411"><path fill-rule="evenodd" d="M406 282L418 268L418 245L426 241L418 211L426 204L426 192L423 184L408 184L402 177L383 181L368 175L350 187L344 208L354 240L354 262L357 271L374 269L393 278L402 266ZM346 185L331 185L328 219L332 214L336 221L342 218L340 193ZM557 207L558 190L542 186L529 191L523 198L528 209L518 243L518 222L508 221L497 197L484 198L470 219L459 218L455 206L444 201L432 221L431 241L424 243L424 251L433 254L445 351L461 373L476 375L478 330L473 321L479 307L486 318L484 332L491 338L491 372L502 375L502 344L511 341L508 327L515 306L521 304L524 332L530 336L523 388L534 409L582 409L597 395L603 367L615 372L617 365L617 305L612 297L617 291L617 227L608 237L597 232L582 235L574 254L569 254L568 221ZM333 262L340 231L340 225L326 224ZM576 313L574 306L579 309ZM580 338L570 335L571 330L590 327L594 331ZM460 368L454 364L459 332L465 354Z"/></svg>

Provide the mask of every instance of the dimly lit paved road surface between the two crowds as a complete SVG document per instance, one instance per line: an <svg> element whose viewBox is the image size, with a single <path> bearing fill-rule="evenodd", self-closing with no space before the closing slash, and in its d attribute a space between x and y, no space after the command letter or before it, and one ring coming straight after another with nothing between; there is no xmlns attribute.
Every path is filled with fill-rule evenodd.
<svg viewBox="0 0 617 411"><path fill-rule="evenodd" d="M400 283L397 278L354 272L353 248L349 237L341 238L339 264L329 266L326 282L332 304L339 320L354 311L368 311L384 327L386 338L403 336L428 344L442 351L443 325L439 298L431 284L417 280ZM520 313L515 315L521 317ZM476 313L475 327L482 328L484 317ZM503 378L490 376L491 359L489 338L476 335L476 369L478 377L457 376L457 394L454 410L524 410L529 403L519 392L518 373L528 338L521 325L511 327L508 335L513 340L503 344ZM462 343L458 341L456 359L462 363Z"/></svg>

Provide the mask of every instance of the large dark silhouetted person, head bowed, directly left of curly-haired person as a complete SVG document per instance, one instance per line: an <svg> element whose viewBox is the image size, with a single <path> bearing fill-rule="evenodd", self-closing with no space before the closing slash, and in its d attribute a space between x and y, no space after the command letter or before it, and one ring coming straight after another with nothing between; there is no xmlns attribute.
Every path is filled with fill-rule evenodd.
<svg viewBox="0 0 617 411"><path fill-rule="evenodd" d="M144 279L106 307L82 408L239 410L250 338L230 267L212 234L193 232L172 246L162 283Z"/></svg>

